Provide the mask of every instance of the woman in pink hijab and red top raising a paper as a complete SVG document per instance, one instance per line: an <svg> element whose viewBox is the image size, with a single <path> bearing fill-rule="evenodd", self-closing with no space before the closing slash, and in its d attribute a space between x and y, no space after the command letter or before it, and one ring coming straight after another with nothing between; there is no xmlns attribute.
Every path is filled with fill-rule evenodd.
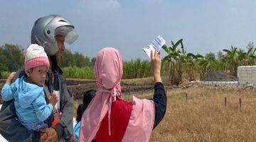
<svg viewBox="0 0 256 142"><path fill-rule="evenodd" d="M122 99L122 57L114 48L97 53L97 93L82 115L79 141L149 141L152 130L164 118L166 94L161 83L161 55L151 52L154 97Z"/></svg>

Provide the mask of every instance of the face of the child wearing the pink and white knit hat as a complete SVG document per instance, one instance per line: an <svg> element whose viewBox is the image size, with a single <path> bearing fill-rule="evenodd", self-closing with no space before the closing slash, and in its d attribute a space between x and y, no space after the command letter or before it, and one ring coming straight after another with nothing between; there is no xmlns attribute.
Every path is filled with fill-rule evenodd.
<svg viewBox="0 0 256 142"><path fill-rule="evenodd" d="M38 86L43 86L43 84L46 81L46 72L48 68L46 66L38 66L34 67L32 70L28 70L28 73L26 73L34 84L37 84Z"/></svg>

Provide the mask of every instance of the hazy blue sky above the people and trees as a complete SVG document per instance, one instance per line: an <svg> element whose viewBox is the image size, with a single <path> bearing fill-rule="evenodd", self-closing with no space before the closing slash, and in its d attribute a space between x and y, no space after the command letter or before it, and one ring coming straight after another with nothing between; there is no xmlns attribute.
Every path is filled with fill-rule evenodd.
<svg viewBox="0 0 256 142"><path fill-rule="evenodd" d="M66 48L90 58L114 47L124 60L148 56L142 48L161 35L167 46L183 38L189 53L215 54L256 42L256 0L0 0L0 45L30 43L34 21L59 14L79 38ZM161 50L164 54L164 50Z"/></svg>

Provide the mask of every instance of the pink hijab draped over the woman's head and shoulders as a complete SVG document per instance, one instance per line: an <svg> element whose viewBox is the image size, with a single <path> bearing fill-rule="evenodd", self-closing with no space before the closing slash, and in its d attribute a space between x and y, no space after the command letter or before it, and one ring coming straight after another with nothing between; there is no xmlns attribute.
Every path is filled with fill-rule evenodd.
<svg viewBox="0 0 256 142"><path fill-rule="evenodd" d="M100 129L104 116L108 115L109 134L112 102L122 99L122 57L114 48L103 48L97 53L95 79L97 93L82 115L79 141L91 142ZM154 125L154 102L133 97L132 114L122 141L149 141ZM132 136L132 137L131 137ZM131 139L132 138L132 139Z"/></svg>

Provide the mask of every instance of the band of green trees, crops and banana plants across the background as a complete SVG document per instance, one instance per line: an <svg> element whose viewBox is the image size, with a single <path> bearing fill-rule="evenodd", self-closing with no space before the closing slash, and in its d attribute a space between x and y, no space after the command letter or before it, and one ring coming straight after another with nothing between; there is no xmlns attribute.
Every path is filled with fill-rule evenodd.
<svg viewBox="0 0 256 142"><path fill-rule="evenodd" d="M206 55L186 53L183 40L171 46L164 46L166 57L163 58L161 74L168 75L171 84L181 84L184 75L189 81L201 79L208 70L218 70L237 76L240 65L256 65L256 48L253 43L247 45L247 50L235 46L224 49L215 57L214 53ZM68 78L94 79L93 65L95 58L88 58L81 53L71 53L65 50L58 65ZM23 49L21 46L5 44L0 46L0 78L6 78L9 72L14 72L23 66ZM123 62L123 79L151 77L149 60L135 59Z"/></svg>

